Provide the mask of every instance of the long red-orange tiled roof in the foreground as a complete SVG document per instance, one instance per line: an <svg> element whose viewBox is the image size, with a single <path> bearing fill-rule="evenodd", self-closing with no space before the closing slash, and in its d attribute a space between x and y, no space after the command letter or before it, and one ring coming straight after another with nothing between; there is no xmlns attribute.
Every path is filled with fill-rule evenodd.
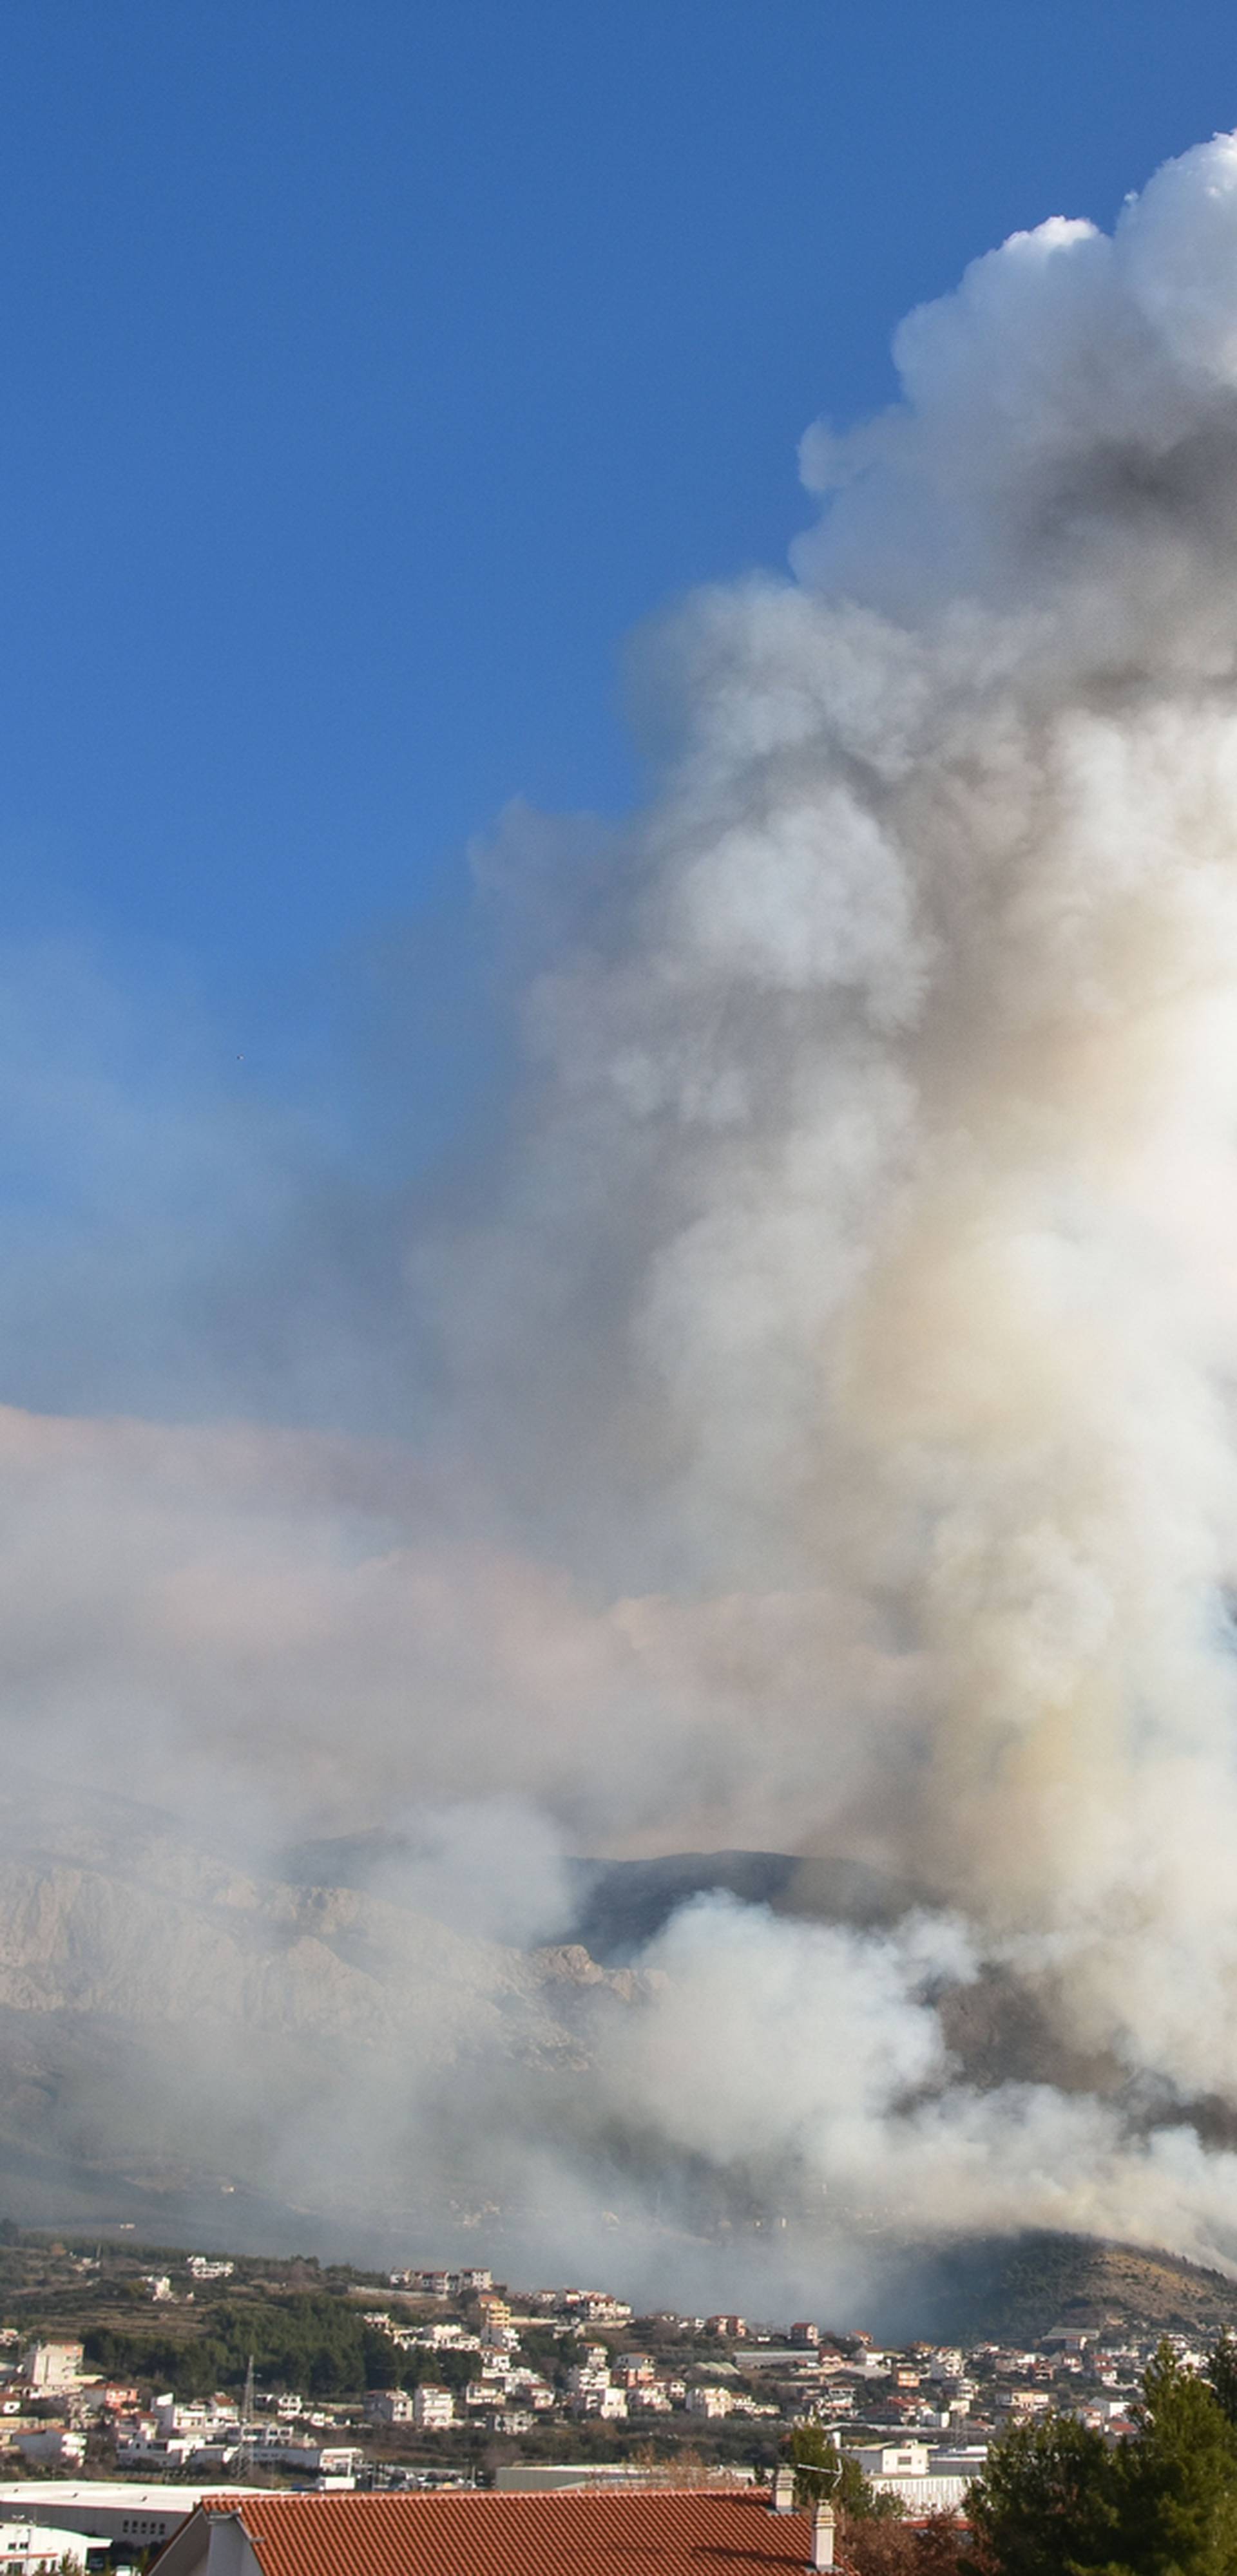
<svg viewBox="0 0 1237 2576"><path fill-rule="evenodd" d="M753 2488L211 2496L240 2514L263 2576L783 2576L812 2517Z"/></svg>

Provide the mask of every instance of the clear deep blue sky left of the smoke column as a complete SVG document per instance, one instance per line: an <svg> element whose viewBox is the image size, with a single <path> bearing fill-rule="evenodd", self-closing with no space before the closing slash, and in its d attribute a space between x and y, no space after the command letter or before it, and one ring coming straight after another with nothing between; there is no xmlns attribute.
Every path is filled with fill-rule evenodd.
<svg viewBox="0 0 1237 2576"><path fill-rule="evenodd" d="M469 835L637 793L624 639L783 562L796 438L887 399L910 304L1227 124L1203 0L13 0L18 1242L183 1231L152 1097L211 1172L271 1121L438 1154L492 1072Z"/></svg>

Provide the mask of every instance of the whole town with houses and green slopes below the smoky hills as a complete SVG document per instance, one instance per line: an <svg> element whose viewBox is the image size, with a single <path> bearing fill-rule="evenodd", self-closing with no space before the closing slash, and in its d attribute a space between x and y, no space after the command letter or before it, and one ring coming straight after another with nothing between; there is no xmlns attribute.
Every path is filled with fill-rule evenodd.
<svg viewBox="0 0 1237 2576"><path fill-rule="evenodd" d="M631 2313L484 2264L374 2275L5 2223L0 2478L683 2481L765 2473L812 2427L876 2496L938 2512L1010 2424L1121 2437L1157 2344L1201 2367L1237 2318L1234 2282L1170 2257L1028 2236L966 2259L969 2331L894 2347L838 2318Z"/></svg>

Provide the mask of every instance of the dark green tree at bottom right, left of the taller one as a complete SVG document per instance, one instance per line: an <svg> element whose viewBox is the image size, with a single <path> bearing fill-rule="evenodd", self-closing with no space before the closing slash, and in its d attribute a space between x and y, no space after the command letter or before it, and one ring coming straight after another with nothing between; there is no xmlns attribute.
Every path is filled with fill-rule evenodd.
<svg viewBox="0 0 1237 2576"><path fill-rule="evenodd" d="M1116 2571L1121 2478L1100 2432L1072 2416L1013 2424L966 2494L966 2519L1000 2576Z"/></svg>

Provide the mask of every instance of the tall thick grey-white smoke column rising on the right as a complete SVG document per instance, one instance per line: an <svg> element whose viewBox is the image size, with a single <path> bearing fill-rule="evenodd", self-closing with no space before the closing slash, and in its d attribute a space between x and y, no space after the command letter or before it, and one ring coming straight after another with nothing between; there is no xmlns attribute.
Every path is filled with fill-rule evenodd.
<svg viewBox="0 0 1237 2576"><path fill-rule="evenodd" d="M796 585L662 636L675 750L533 981L464 1350L549 1309L678 1577L814 1600L747 1793L768 1726L796 1847L923 1909L683 1917L649 2117L920 2221L1237 2251L1191 2125L1237 2105L1237 139L1113 237L1015 234L897 366L804 438ZM856 1641L902 1667L879 1723ZM951 2079L928 1996L977 1963L1103 2099Z"/></svg>

